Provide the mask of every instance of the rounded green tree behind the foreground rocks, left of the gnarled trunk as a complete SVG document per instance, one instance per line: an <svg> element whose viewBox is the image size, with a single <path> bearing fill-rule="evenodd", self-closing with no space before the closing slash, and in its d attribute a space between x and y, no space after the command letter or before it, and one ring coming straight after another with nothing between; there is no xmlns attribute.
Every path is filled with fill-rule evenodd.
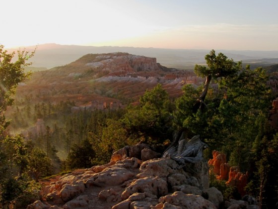
<svg viewBox="0 0 278 209"><path fill-rule="evenodd" d="M157 143L171 137L172 106L168 93L158 84L147 90L139 100L140 105L130 105L122 119L129 134L152 139Z"/></svg>

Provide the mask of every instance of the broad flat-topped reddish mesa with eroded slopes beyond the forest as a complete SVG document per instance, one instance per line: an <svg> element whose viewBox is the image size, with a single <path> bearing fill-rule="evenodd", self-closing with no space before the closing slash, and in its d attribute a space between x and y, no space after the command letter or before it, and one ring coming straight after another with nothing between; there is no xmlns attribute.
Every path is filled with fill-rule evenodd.
<svg viewBox="0 0 278 209"><path fill-rule="evenodd" d="M18 87L17 96L32 95L33 103L129 104L157 83L177 97L184 84L199 85L203 79L190 71L164 67L156 58L123 52L87 54L68 65L34 72L27 84Z"/></svg>

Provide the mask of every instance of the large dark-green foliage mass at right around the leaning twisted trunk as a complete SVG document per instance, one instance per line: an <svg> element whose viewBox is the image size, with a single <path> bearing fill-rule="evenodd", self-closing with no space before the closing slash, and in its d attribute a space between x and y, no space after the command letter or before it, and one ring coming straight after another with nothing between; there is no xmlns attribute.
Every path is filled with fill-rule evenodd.
<svg viewBox="0 0 278 209"><path fill-rule="evenodd" d="M224 151L231 164L246 171L260 126L255 121L266 118L271 106L268 76L262 68L242 68L240 62L236 64L220 53L216 56L214 51L206 59L209 68L197 66L197 73L211 75L217 86L208 88L202 102L198 99L200 89L185 86L184 95L176 101L175 121L188 134L200 134L211 151ZM195 99L205 108L194 111Z"/></svg>

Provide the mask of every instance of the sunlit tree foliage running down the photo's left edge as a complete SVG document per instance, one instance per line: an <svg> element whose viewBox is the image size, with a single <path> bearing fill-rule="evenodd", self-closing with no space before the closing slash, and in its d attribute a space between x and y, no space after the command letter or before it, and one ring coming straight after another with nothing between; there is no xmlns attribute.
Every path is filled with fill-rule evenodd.
<svg viewBox="0 0 278 209"><path fill-rule="evenodd" d="M14 61L16 53L8 53L3 48L0 45L0 202L5 208L23 199L27 205L30 204L31 200L28 196L34 195L34 190L37 190L38 186L24 175L28 162L24 139L22 135L7 134L6 128L9 122L4 116L6 107L14 102L12 96L15 94L16 87L19 83L25 82L30 75L24 72L24 67L31 65L27 61L34 56L35 52L29 54L27 51L19 50L17 59ZM28 190L31 192L27 192ZM33 198L34 196L32 200Z"/></svg>

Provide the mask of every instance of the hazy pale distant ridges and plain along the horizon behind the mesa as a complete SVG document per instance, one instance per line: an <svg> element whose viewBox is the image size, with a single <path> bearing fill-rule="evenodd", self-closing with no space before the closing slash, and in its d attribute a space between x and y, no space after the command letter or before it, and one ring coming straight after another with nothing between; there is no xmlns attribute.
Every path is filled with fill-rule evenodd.
<svg viewBox="0 0 278 209"><path fill-rule="evenodd" d="M32 51L36 46L26 46L25 49ZM23 47L21 48L23 49ZM17 49L10 49L17 50ZM163 66L178 69L193 69L195 64L205 63L205 55L210 50L193 49L160 49L160 48L136 48L136 47L112 47L112 46L77 46L42 44L37 46L36 54L32 58L33 67L53 68L69 64L86 54L101 54L113 52L126 52L134 55L156 58ZM278 51L235 51L216 50L222 52L234 61L242 60L257 66L269 66L278 63Z"/></svg>

